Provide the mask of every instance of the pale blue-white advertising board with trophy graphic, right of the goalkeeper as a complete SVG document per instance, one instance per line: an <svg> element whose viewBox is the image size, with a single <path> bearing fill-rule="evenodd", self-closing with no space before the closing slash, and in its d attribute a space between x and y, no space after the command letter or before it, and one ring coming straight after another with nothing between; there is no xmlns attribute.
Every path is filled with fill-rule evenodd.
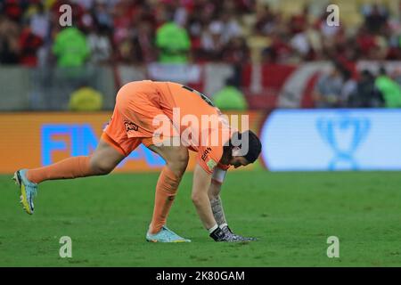
<svg viewBox="0 0 401 285"><path fill-rule="evenodd" d="M260 134L271 171L401 170L401 110L274 110Z"/></svg>

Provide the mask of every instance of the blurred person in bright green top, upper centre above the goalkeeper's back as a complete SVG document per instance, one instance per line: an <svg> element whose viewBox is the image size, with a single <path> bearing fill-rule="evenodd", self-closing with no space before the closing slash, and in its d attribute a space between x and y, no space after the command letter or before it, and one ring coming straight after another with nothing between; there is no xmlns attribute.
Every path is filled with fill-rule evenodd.
<svg viewBox="0 0 401 285"><path fill-rule="evenodd" d="M191 42L184 28L169 21L158 28L156 46L159 48L159 61L162 63L186 63Z"/></svg>

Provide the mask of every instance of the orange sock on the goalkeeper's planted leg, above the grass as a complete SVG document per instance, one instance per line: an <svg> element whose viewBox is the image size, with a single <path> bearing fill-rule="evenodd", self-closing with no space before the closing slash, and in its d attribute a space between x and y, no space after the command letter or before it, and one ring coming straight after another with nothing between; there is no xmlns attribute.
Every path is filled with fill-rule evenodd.
<svg viewBox="0 0 401 285"><path fill-rule="evenodd" d="M154 200L153 216L151 218L150 232L159 232L161 227L166 224L168 212L176 197L176 191L181 178L167 167L161 170Z"/></svg>

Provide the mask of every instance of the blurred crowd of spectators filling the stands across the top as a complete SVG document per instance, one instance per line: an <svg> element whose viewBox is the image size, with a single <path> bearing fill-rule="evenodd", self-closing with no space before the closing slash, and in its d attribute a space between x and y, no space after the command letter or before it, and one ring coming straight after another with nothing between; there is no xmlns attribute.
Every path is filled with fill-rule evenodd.
<svg viewBox="0 0 401 285"><path fill-rule="evenodd" d="M299 1L302 8L296 11L284 2L2 0L0 63L77 67L217 61L241 67L332 61L333 68L316 85L316 107L401 107L397 74L355 66L356 61L401 60L399 2L340 1L340 13L342 7L347 13L333 27L327 25L324 1ZM62 4L72 7L70 28L59 24ZM391 99L383 94L389 88Z"/></svg>

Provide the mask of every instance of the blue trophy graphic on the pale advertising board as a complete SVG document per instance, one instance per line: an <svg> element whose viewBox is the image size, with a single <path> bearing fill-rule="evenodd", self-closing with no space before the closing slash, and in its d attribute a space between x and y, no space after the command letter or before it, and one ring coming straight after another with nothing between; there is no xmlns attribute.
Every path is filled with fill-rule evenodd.
<svg viewBox="0 0 401 285"><path fill-rule="evenodd" d="M368 118L318 118L316 127L323 141L334 152L329 162L329 170L357 170L358 163L354 157L357 148L366 138L371 122Z"/></svg>

